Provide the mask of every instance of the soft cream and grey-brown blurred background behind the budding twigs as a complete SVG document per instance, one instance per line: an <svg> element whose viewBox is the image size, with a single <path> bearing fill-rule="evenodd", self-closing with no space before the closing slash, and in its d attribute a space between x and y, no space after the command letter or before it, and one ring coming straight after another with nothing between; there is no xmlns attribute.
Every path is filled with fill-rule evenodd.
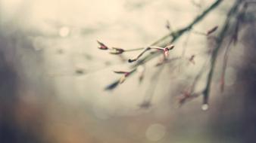
<svg viewBox="0 0 256 143"><path fill-rule="evenodd" d="M0 142L256 142L255 7L229 53L220 93L223 52L217 60L208 111L201 97L176 108L176 98L208 59L174 62L159 71L158 59L117 89L104 88L130 70L123 56L98 50L144 47L191 23L213 0L0 0ZM233 0L224 1L193 29L221 26ZM171 56L200 55L213 43L183 35ZM157 75L158 78L155 78ZM206 75L196 87L204 88ZM142 105L152 96L151 106ZM143 107L143 108L142 108Z"/></svg>

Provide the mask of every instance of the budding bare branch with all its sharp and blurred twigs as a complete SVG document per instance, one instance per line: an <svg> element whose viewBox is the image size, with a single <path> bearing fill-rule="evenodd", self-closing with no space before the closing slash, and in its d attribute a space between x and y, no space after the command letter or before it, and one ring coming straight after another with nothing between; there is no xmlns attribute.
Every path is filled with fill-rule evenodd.
<svg viewBox="0 0 256 143"><path fill-rule="evenodd" d="M192 1L194 2L194 1ZM227 61L228 61L228 56L229 56L229 50L231 48L231 44L236 45L238 41L238 36L239 36L239 29L241 26L241 23L245 22L248 17L245 17L246 10L248 8L248 5L250 4L256 4L256 2L247 2L243 0L236 0L234 2L233 6L229 9L229 11L226 14L226 20L223 23L222 28L220 29L220 32L218 33L217 36L211 36L213 32L216 32L218 29L218 26L214 26L212 29L209 29L208 32L199 32L195 31L193 27L201 22L201 20L206 17L207 14L209 14L211 11L214 10L214 8L217 8L220 3L223 2L223 0L216 0L210 7L206 8L201 14L198 15L198 17L195 17L194 20L192 20L191 23L189 23L187 26L183 27L182 29L178 29L176 31L173 31L170 27L169 21L167 21L166 28L170 31L167 35L164 35L163 37L159 38L157 41L153 42L149 46L146 47L139 47L135 49L130 49L130 50L125 50L122 48L117 48L117 47L112 47L109 48L105 44L101 43L98 41L98 44L100 45L99 49L101 50L110 50L111 54L122 54L124 52L130 52L130 51L135 51L135 50L141 50L138 56L136 56L133 59L129 59L128 62L135 62L131 66L132 70L131 71L115 71L117 74L122 74L123 76L117 80L114 81L112 84L108 85L108 87L105 88L105 90L113 90L116 88L119 84L122 84L123 81L130 77L130 75L133 75L137 70L142 65L145 65L147 62L151 61L151 59L154 59L155 57L163 55L164 58L161 60L161 62L158 62L155 66L160 66L161 68L158 69L158 71L155 73L155 75L152 78L151 85L149 86L149 89L147 90L147 95L144 98L144 101L140 105L141 108L149 108L151 106L151 99L152 96L154 95L155 92L155 87L158 84L158 78L161 75L161 71L164 68L164 64L168 62L173 62L176 59L183 59L183 56L186 53L186 46L187 42L189 41L189 35L186 38L186 41L183 45L183 51L181 56L178 57L172 57L169 58L169 50L173 49L173 43L176 42L181 36L183 36L184 33L191 32L199 35L206 36L208 39L213 38L214 39L214 48L211 49L211 52L207 52L209 55L210 59L210 64L209 60L206 60L204 65L201 66L201 70L198 71L198 74L195 75L194 80L192 81L192 85L187 89L184 93L183 96L180 96L178 99L178 102L180 105L183 105L184 102L189 101L191 99L194 99L195 97L198 96L203 96L203 105L201 108L203 110L208 109L208 99L209 99L209 94L211 90L211 84L212 84L212 79L214 76L214 69L217 61L217 56L219 53L219 50L221 47L223 47L223 43L226 40L226 38L229 38L229 41L226 45L226 48L224 50L224 56L223 56L223 68L222 68L222 73L221 73L221 82L220 82L220 88L223 91L224 89L224 84L225 84L225 71L226 71L226 66L227 66ZM243 7L240 8L240 5L243 4ZM200 6L198 3L194 2L194 5ZM201 7L201 6L200 6ZM252 17L252 16L251 16ZM254 18L254 16L252 17ZM254 18L255 19L255 18ZM204 54L206 54L204 52ZM145 56L144 56L145 55ZM191 62L192 64L195 64L195 55L192 55L188 58L188 61ZM180 62L181 63L181 62ZM204 72L208 71L207 73L207 78L206 78L206 85L203 90L200 92L195 92L195 87L198 84L198 81L201 78L201 75L204 75ZM141 72L142 78L144 76L144 71Z"/></svg>

